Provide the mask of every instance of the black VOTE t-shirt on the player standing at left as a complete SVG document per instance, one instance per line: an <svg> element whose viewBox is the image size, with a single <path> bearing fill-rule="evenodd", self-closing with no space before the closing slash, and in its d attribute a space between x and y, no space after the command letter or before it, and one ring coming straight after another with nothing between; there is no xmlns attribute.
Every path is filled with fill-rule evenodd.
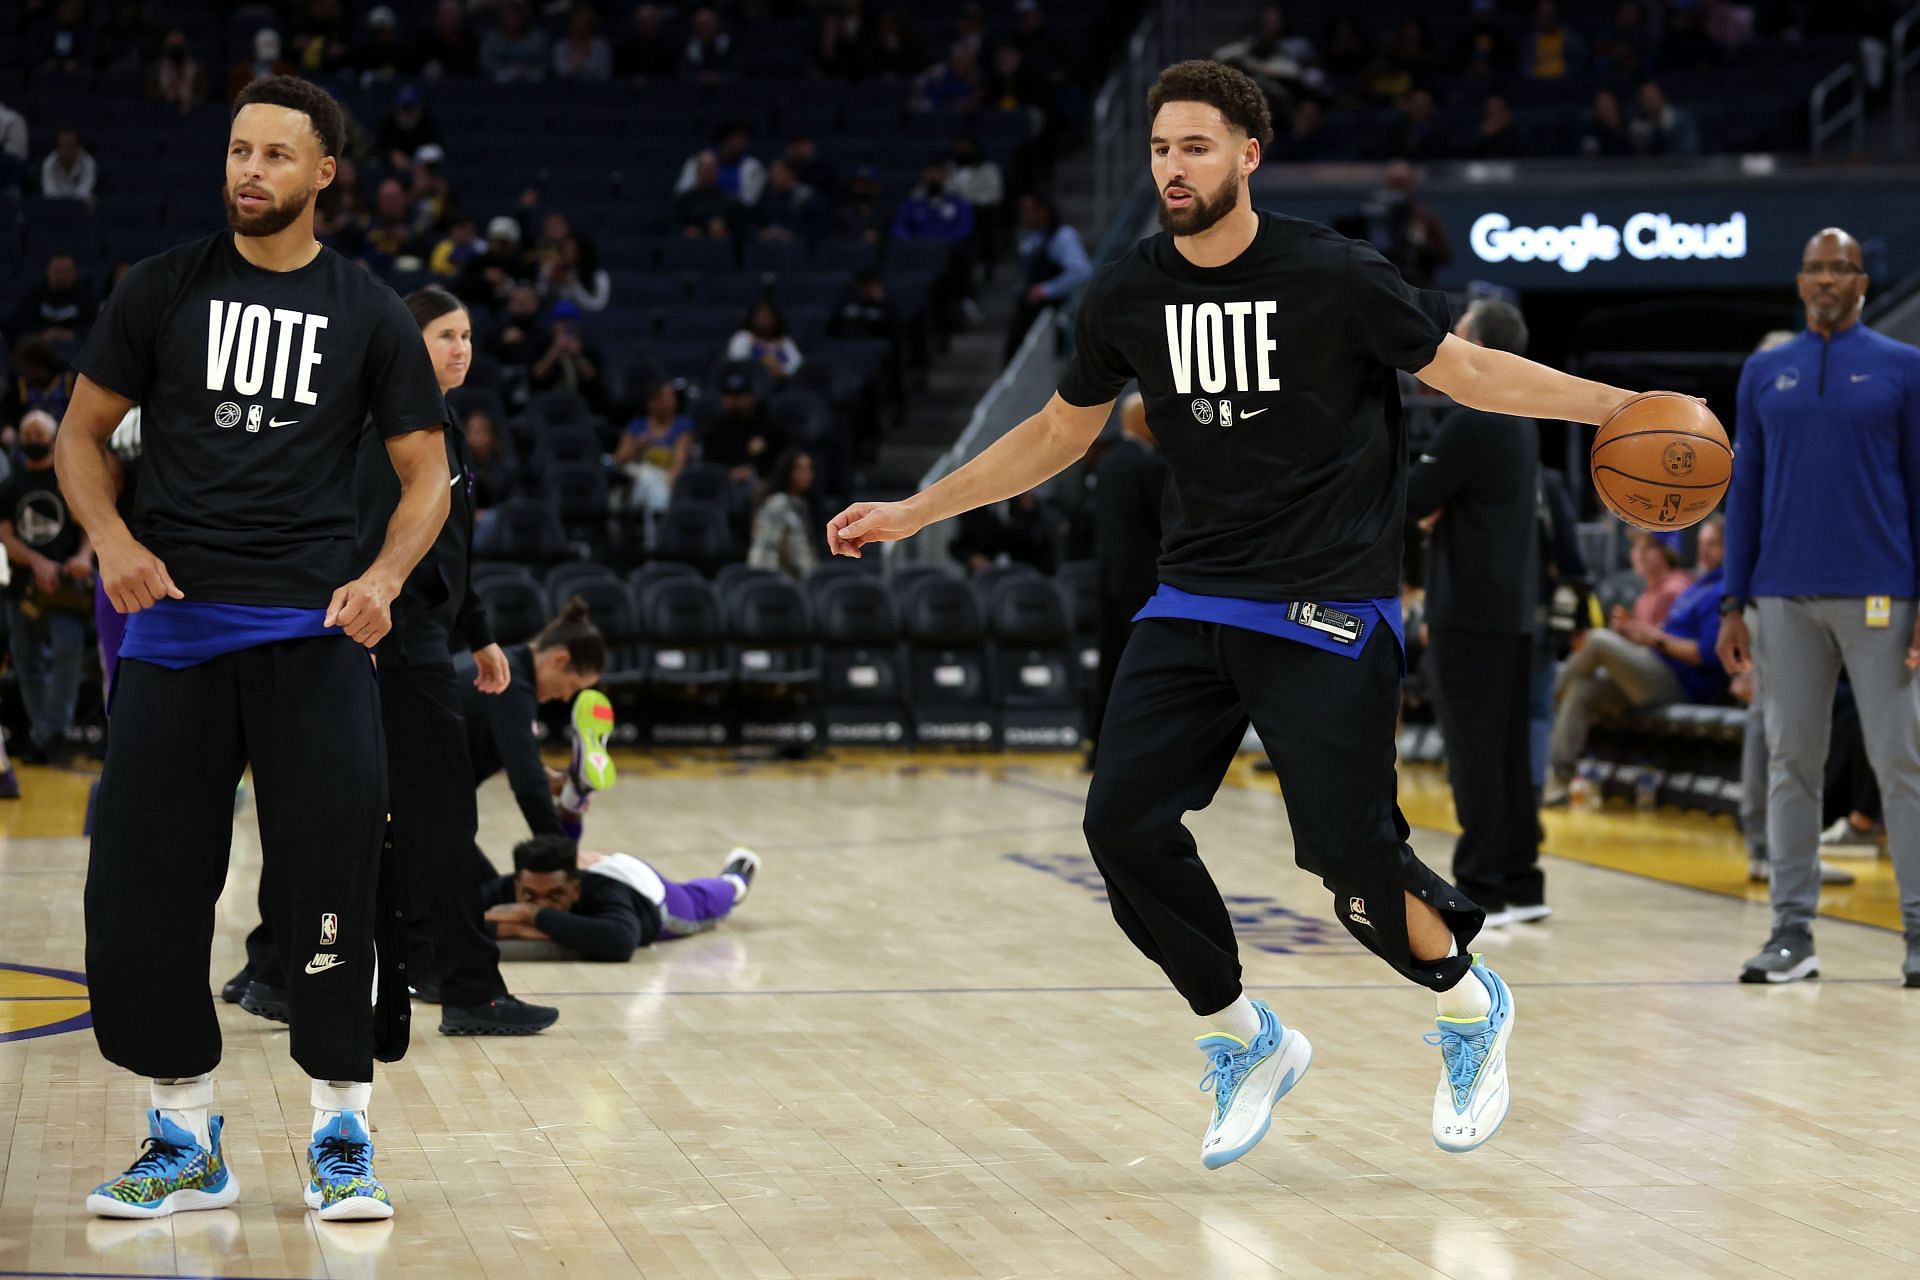
<svg viewBox="0 0 1920 1280"><path fill-rule="evenodd" d="M136 263L79 372L140 405L132 533L188 601L324 608L361 562L353 453L440 426L407 303L332 249L263 271L230 232Z"/></svg>

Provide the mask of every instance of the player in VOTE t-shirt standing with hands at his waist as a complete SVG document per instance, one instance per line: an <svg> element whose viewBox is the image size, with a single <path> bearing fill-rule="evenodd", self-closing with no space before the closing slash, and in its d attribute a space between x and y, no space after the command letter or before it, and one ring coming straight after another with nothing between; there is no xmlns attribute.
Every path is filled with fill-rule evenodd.
<svg viewBox="0 0 1920 1280"><path fill-rule="evenodd" d="M100 1052L152 1080L152 1111L146 1151L86 1197L109 1217L238 1196L209 1115L221 1034L205 967L250 762L275 931L311 948L290 990L292 1055L313 1080L303 1197L323 1219L394 1213L367 1128L374 1054L403 1044L376 1034L369 1000L386 760L367 649L445 524L447 455L407 307L313 238L344 134L338 104L305 81L238 96L232 230L150 257L113 290L60 432L61 484L108 599L131 614L86 873L86 977ZM134 403L129 526L108 439ZM353 505L369 415L401 487L371 564Z"/></svg>

